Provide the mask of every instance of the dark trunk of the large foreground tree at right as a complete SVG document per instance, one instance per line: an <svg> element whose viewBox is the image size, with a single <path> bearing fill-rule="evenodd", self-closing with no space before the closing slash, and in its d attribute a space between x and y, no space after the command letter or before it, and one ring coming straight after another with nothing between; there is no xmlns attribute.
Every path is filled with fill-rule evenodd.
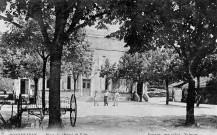
<svg viewBox="0 0 217 135"><path fill-rule="evenodd" d="M188 95L187 95L187 115L186 115L186 125L193 125L195 124L194 119L194 102L195 102L195 81L192 78L188 81Z"/></svg>

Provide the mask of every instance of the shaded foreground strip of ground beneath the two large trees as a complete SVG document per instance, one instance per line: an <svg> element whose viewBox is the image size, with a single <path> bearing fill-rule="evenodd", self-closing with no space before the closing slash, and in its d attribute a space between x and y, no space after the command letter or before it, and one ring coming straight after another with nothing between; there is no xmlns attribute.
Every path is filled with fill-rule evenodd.
<svg viewBox="0 0 217 135"><path fill-rule="evenodd" d="M200 115L195 116L196 126L184 126L185 116L161 116L161 117L135 117L135 116L86 116L78 117L75 127L70 126L68 117L63 117L64 131L73 132L150 132L150 133L207 133L206 131L217 131L217 116ZM34 117L23 116L22 129L31 129L31 123L34 122ZM48 117L42 121L42 127L38 130L44 131L47 129ZM210 134L210 133L209 133ZM202 134L203 135L203 134Z"/></svg>

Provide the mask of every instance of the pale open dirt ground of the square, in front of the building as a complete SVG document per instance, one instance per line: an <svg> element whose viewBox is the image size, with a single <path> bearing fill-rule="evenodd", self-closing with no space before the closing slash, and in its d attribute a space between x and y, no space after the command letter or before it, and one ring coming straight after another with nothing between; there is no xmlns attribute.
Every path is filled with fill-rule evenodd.
<svg viewBox="0 0 217 135"><path fill-rule="evenodd" d="M119 106L93 106L93 102L78 101L78 117L75 127L70 126L69 113L62 115L62 130L47 130L48 116L42 121L39 129L31 128L34 116L28 119L23 114L21 130L2 130L1 135L214 135L217 134L217 106L200 105L195 108L197 124L184 126L186 105L170 103L165 105L162 99L151 99L150 102L121 102ZM1 113L9 116L10 107L3 107Z"/></svg>

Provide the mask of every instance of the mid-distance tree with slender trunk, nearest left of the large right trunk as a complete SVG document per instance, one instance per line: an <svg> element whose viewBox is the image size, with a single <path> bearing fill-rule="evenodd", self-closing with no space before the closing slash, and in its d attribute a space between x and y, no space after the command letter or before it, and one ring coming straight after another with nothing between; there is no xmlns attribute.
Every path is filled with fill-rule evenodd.
<svg viewBox="0 0 217 135"><path fill-rule="evenodd" d="M180 80L179 69L182 62L179 56L172 49L157 49L155 51L148 51L148 61L150 63L149 69L152 74L149 81L164 82L166 88L166 104L169 104L169 83Z"/></svg>

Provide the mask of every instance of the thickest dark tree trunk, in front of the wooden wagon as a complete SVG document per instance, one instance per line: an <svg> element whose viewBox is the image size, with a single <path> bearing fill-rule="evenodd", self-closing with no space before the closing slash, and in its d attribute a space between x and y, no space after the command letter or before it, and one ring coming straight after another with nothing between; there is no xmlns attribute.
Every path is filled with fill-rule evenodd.
<svg viewBox="0 0 217 135"><path fill-rule="evenodd" d="M62 48L54 45L50 53L49 125L48 128L62 128L60 110L60 78Z"/></svg>

